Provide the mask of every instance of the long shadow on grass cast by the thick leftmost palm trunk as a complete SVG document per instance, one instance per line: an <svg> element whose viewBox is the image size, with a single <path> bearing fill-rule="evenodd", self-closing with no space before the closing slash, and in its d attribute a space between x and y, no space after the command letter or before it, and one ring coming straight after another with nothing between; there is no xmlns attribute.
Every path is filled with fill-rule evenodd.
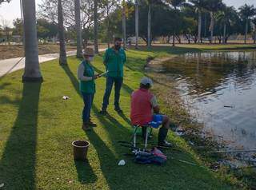
<svg viewBox="0 0 256 190"><path fill-rule="evenodd" d="M0 184L6 189L34 189L41 83L24 83L18 117L0 160ZM11 116L10 116L11 117Z"/></svg>

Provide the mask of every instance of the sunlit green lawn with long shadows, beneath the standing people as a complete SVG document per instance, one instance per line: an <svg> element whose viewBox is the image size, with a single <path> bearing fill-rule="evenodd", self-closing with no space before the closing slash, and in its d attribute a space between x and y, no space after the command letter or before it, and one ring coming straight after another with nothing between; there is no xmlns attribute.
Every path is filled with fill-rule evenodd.
<svg viewBox="0 0 256 190"><path fill-rule="evenodd" d="M101 78L92 110L98 127L86 133L81 129L83 103L76 77L78 59L70 57L69 66L63 67L58 61L42 64L45 81L41 85L22 84L22 71L0 78L0 184L5 184L1 189L234 189L209 169L178 160L168 160L163 166L134 164L131 158L123 156L128 149L117 144L130 141L130 93L143 76L146 57L206 49L197 48L128 50L121 97L125 114L114 112L111 96L110 116L98 115L105 89L105 78ZM95 57L94 65L96 71L104 71L102 55ZM63 95L70 100L63 101ZM185 141L172 133L168 138L182 152L166 153L202 164ZM90 141L88 163L74 162L71 142L75 140ZM153 141L157 141L156 133ZM126 165L119 167L121 159L126 160Z"/></svg>

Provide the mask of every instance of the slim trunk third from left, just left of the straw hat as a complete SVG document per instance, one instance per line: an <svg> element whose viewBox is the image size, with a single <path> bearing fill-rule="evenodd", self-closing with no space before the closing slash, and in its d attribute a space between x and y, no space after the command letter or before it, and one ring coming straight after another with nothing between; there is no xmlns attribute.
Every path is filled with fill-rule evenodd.
<svg viewBox="0 0 256 190"><path fill-rule="evenodd" d="M82 57L80 0L74 0L74 14L75 14L75 27L77 32L77 57Z"/></svg>

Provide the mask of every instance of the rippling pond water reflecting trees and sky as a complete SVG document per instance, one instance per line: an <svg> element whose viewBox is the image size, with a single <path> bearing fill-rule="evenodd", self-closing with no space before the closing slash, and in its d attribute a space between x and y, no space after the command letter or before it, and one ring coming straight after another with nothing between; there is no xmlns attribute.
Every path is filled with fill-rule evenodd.
<svg viewBox="0 0 256 190"><path fill-rule="evenodd" d="M256 149L256 50L186 53L162 69L207 132L231 148Z"/></svg>

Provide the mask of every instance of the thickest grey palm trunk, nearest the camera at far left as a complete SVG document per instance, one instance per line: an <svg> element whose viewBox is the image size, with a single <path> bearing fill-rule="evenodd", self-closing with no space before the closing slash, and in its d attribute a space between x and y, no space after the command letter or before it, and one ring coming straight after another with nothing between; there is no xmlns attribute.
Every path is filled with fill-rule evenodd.
<svg viewBox="0 0 256 190"><path fill-rule="evenodd" d="M35 1L22 1L23 18L24 18L24 51L25 51L25 69L22 81L42 81L38 61L38 38L35 16Z"/></svg>

